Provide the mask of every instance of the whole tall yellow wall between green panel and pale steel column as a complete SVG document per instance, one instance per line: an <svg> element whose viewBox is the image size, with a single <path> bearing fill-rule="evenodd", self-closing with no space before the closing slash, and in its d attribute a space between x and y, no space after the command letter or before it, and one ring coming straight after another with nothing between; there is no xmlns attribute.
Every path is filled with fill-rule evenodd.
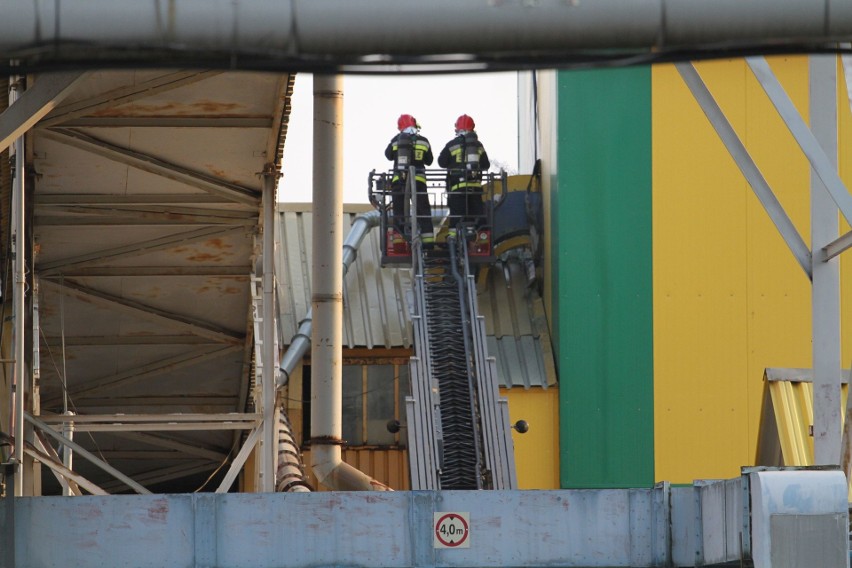
<svg viewBox="0 0 852 568"><path fill-rule="evenodd" d="M806 60L771 64L806 109ZM809 241L807 162L759 84L742 60L697 68ZM810 365L810 287L677 71L652 80L656 477L733 477L763 369Z"/></svg>

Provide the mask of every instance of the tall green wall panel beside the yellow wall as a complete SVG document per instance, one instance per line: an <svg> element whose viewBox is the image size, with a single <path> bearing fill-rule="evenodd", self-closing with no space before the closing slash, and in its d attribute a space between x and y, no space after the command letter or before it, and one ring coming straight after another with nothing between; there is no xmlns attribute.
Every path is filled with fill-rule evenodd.
<svg viewBox="0 0 852 568"><path fill-rule="evenodd" d="M651 70L565 71L552 195L564 488L654 483Z"/></svg>

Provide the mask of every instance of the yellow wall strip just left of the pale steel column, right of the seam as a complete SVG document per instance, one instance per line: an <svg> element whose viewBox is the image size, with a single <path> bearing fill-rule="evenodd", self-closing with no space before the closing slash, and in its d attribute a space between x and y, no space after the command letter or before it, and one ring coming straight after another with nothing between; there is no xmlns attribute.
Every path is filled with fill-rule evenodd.
<svg viewBox="0 0 852 568"><path fill-rule="evenodd" d="M808 117L808 60L770 60L772 70L799 113ZM747 75L746 147L787 215L810 243L810 168L757 79ZM749 189L751 193L751 190ZM748 385L747 461L754 459L766 367L811 366L811 285L756 198L748 203Z"/></svg>

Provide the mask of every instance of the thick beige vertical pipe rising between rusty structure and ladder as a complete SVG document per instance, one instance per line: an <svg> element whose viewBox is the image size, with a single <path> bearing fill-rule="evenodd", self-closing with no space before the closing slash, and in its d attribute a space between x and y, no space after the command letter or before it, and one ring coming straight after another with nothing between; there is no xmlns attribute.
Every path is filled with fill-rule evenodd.
<svg viewBox="0 0 852 568"><path fill-rule="evenodd" d="M311 458L320 483L343 433L343 77L314 75Z"/></svg>

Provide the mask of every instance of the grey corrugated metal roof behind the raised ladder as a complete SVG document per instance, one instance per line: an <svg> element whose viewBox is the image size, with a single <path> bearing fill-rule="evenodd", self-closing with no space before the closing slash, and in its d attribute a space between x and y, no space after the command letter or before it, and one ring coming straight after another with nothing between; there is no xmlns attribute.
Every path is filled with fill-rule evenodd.
<svg viewBox="0 0 852 568"><path fill-rule="evenodd" d="M279 206L276 273L282 343L289 344L311 305L311 204ZM344 233L369 205L346 206ZM411 273L382 268L379 233L371 231L344 279L343 343L356 348L411 348ZM523 267L509 262L490 270L479 295L488 350L505 387L556 384L541 297L526 286Z"/></svg>

